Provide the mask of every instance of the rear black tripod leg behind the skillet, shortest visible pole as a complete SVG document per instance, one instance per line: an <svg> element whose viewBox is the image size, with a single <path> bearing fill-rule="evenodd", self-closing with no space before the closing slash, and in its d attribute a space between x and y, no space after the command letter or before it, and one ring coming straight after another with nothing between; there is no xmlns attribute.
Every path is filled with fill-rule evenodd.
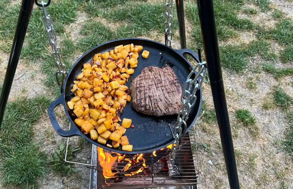
<svg viewBox="0 0 293 189"><path fill-rule="evenodd" d="M179 26L179 38L181 49L186 49L186 36L185 36L185 21L184 21L184 7L183 0L176 1L176 10ZM186 58L186 54L183 55Z"/></svg>

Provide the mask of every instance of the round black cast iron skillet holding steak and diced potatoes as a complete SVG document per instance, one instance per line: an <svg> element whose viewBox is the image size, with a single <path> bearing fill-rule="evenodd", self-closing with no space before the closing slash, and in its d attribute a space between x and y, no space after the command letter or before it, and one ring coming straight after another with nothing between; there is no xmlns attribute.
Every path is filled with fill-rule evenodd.
<svg viewBox="0 0 293 189"><path fill-rule="evenodd" d="M75 124L74 119L75 116L72 116L73 110L70 110L67 101L74 96L73 94L70 95L71 89L73 86L73 81L76 79L77 75L81 73L84 63L88 63L92 60L94 54L96 53L103 53L106 51L110 51L114 49L115 46L118 45L127 45L133 43L134 45L142 45L143 50L148 50L150 55L148 59L144 59L141 55L138 58L138 67L135 68L134 73L131 75L128 83L126 84L130 87L130 82L133 78L140 74L141 70L147 66L156 66L156 67L171 67L174 71L176 76L179 79L180 84L184 85L186 78L190 71L192 70L191 64L185 59L182 55L188 54L191 55L197 62L198 55L189 49L182 49L182 50L174 50L172 48L166 47L165 45L155 42L152 40L147 39L139 39L139 38L127 38L127 39L118 39L106 42L101 44L97 47L86 52L82 57L80 57L70 69L64 83L63 93L62 95L51 103L49 106L48 114L50 117L50 121L55 129L55 131L61 135L62 137L71 137L71 136L82 136L87 139L89 142L99 146L101 148L118 152L124 154L138 154L138 153L148 153L153 152L155 150L161 149L166 147L169 144L172 144L174 141L172 134L169 130L168 124L174 128L175 124L177 123L177 115L172 116L165 116L165 117L154 117L149 115L144 115L142 113L136 112L132 106L131 102L127 103L126 107L123 110L123 114L121 120L123 118L130 118L132 119L132 124L135 126L134 128L130 127L126 130L126 135L129 140L129 144L133 145L133 151L122 151L122 147L118 148L109 148L104 144L100 144L97 141L94 141L90 138L89 134L83 134L80 131L80 127ZM194 124L195 120L197 119L201 107L201 100L202 100L202 93L201 89L196 92L197 102L193 106L190 114L189 119L187 120L187 127L183 130L187 132L192 125ZM70 130L62 130L60 125L58 124L54 108L62 104L65 109L65 113L70 120L72 127ZM182 133L182 134L185 134ZM111 140L109 140L111 141ZM111 144L111 143L109 143Z"/></svg>

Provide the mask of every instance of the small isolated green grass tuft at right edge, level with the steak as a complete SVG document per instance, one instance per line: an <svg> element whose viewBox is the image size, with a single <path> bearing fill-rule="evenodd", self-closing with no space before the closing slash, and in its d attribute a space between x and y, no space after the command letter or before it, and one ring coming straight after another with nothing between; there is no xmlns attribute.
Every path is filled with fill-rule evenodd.
<svg viewBox="0 0 293 189"><path fill-rule="evenodd" d="M274 102L277 106L279 106L283 110L286 110L292 105L293 100L291 96L284 93L282 88L276 87L274 93Z"/></svg>

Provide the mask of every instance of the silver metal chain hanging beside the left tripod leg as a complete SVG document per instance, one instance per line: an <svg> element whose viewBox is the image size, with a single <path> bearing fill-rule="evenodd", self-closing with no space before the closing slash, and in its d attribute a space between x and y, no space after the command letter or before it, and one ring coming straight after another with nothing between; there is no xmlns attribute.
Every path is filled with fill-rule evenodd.
<svg viewBox="0 0 293 189"><path fill-rule="evenodd" d="M67 75L67 69L62 62L62 56L63 56L62 50L57 43L57 36L56 36L55 30L53 28L52 18L47 13L47 8L46 8L47 4L44 3L44 1L41 1L41 5L43 8L43 13L44 13L44 16L43 16L44 27L45 27L45 30L48 35L48 41L52 47L52 57L53 57L55 64L57 64L57 67L59 70L55 73L55 76L56 76L58 85L61 85L61 93L62 93L64 80ZM59 81L58 75L62 76L61 82Z"/></svg>

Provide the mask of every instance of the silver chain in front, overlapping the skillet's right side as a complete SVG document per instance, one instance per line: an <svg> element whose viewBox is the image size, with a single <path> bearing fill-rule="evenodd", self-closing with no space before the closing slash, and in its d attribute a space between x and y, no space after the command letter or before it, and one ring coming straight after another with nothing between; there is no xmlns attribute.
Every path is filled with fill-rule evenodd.
<svg viewBox="0 0 293 189"><path fill-rule="evenodd" d="M204 74L206 74L207 71L207 69L204 67L205 64L206 62L199 62L187 76L187 80L184 83L181 95L182 109L178 113L178 123L173 132L175 140L172 144L172 152L170 154L171 160L175 159L176 148L179 146L179 141L181 140L182 134L185 134L186 132L186 121L188 119L191 108L195 105L197 100L197 96L195 96L195 93L201 87L201 84L204 81ZM196 75L195 78L191 79L194 74ZM182 131L182 125L184 125L184 131Z"/></svg>

